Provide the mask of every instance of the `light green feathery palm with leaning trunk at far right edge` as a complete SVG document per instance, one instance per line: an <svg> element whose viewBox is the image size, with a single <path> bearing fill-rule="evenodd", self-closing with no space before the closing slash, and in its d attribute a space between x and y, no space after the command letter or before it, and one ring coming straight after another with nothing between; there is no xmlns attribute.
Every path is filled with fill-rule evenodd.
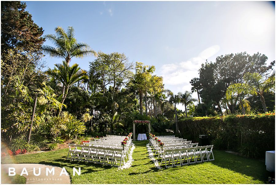
<svg viewBox="0 0 276 185"><path fill-rule="evenodd" d="M245 73L244 80L251 87L251 93L260 96L260 101L263 106L264 112L267 112L264 93L275 93L275 73L267 79L259 73Z"/></svg>

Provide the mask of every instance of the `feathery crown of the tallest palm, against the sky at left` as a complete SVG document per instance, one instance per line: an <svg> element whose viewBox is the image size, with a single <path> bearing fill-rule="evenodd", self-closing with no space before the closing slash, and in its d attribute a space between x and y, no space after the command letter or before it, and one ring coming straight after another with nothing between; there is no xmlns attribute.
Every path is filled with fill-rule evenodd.
<svg viewBox="0 0 276 185"><path fill-rule="evenodd" d="M97 56L97 52L90 49L90 46L86 43L77 43L75 38L75 31L72 26L68 26L67 33L62 27L55 28L56 35L45 35L46 39L52 41L56 47L49 45L43 45L42 51L51 57L64 58L66 65L69 66L71 58L82 58L86 56Z"/></svg>

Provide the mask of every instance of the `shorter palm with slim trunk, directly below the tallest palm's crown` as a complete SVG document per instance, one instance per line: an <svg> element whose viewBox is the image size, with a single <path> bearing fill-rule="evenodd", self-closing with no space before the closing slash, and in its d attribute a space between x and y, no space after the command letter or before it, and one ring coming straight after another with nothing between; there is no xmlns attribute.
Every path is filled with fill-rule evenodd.
<svg viewBox="0 0 276 185"><path fill-rule="evenodd" d="M86 71L81 70L78 64L73 64L71 67L67 66L67 62L63 61L63 64L55 64L57 68L55 69L48 69L45 73L51 75L52 77L56 78L59 82L63 84L63 91L62 91L62 101L63 104L69 87L75 84L78 81L82 81L84 79L88 79L86 75ZM61 109L59 109L58 115L60 115Z"/></svg>

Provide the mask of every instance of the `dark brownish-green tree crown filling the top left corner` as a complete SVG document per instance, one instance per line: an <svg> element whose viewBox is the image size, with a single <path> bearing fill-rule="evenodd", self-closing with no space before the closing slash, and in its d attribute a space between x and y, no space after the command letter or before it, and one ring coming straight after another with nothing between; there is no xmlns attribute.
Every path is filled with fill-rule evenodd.
<svg viewBox="0 0 276 185"><path fill-rule="evenodd" d="M25 8L25 2L1 1L1 57L8 49L39 50L44 42L42 27L33 22Z"/></svg>

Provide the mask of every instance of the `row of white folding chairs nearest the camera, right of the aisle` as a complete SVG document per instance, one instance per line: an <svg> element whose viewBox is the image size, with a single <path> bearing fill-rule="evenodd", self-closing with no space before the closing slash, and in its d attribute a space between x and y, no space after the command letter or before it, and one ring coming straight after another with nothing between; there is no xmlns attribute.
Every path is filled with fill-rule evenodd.
<svg viewBox="0 0 276 185"><path fill-rule="evenodd" d="M191 148L175 148L164 150L161 158L161 165L164 162L165 167L167 168L173 166L182 166L186 164L202 163L205 161L212 160L215 160L213 155L213 145L198 146ZM167 166L167 161L168 164L171 163L171 166Z"/></svg>

